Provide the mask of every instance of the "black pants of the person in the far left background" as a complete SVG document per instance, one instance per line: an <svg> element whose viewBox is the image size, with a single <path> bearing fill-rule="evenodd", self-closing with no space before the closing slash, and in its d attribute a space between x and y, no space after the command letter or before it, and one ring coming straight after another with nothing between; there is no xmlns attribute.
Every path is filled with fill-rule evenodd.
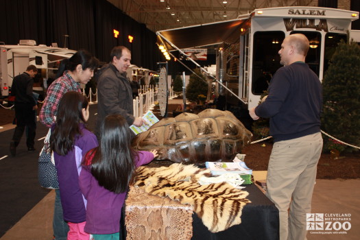
<svg viewBox="0 0 360 240"><path fill-rule="evenodd" d="M25 127L27 127L28 133L26 138L27 147L34 147L34 139L36 132L36 114L35 110L32 110L30 104L15 104L15 117L16 117L16 128L12 141L15 145L19 145L21 136L23 136Z"/></svg>

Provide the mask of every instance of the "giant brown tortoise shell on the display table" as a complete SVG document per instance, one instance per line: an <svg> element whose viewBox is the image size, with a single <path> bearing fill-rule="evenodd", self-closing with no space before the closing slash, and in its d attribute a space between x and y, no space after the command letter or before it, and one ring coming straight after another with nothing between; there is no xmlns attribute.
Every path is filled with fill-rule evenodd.
<svg viewBox="0 0 360 240"><path fill-rule="evenodd" d="M136 136L138 150L158 150L158 159L175 163L229 161L250 143L252 134L229 111L206 109L165 118Z"/></svg>

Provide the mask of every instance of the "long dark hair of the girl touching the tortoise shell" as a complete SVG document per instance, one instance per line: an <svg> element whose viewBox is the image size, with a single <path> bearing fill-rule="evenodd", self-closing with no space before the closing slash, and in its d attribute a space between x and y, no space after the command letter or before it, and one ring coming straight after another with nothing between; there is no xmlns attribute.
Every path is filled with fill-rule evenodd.
<svg viewBox="0 0 360 240"><path fill-rule="evenodd" d="M136 168L132 135L121 115L109 115L101 124L101 139L92 160L91 173L99 185L114 193L128 189Z"/></svg>

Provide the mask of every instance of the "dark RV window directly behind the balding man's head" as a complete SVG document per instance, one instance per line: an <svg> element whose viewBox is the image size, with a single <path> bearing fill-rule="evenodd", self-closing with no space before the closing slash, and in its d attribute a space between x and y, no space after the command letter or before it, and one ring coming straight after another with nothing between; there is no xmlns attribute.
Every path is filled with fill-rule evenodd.
<svg viewBox="0 0 360 240"><path fill-rule="evenodd" d="M309 39L310 48L307 53L307 59L305 60L311 70L319 76L320 73L320 50L321 50L321 34L320 32L300 32L293 31L291 34L304 34Z"/></svg>

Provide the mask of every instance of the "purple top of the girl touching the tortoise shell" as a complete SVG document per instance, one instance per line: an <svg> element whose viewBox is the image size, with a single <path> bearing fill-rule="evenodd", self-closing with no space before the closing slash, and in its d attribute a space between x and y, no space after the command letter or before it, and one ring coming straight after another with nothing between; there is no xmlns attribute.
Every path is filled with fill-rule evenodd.
<svg viewBox="0 0 360 240"><path fill-rule="evenodd" d="M136 167L150 163L153 158L151 152L139 152ZM85 232L98 235L120 232L121 208L127 192L117 194L100 187L89 167L82 167L79 182L82 194L88 201Z"/></svg>

